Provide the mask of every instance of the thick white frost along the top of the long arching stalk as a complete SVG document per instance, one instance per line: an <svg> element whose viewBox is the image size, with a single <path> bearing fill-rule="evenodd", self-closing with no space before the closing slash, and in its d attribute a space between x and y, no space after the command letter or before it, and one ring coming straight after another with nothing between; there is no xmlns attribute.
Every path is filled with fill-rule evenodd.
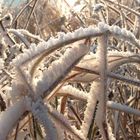
<svg viewBox="0 0 140 140"><path fill-rule="evenodd" d="M87 36L98 36L100 34L106 33L110 31L111 34L117 36L120 39L126 40L138 48L140 48L140 42L135 38L134 34L126 29L121 29L117 26L109 26L105 23L100 22L98 24L98 28L88 27L88 28L79 28L75 30L73 33L69 32L67 34L59 33L58 38L50 38L47 42L41 42L38 45L31 45L29 49L25 51L24 54L18 55L14 60L13 64L16 66L20 66L23 63L31 60L35 56L43 53L49 47L54 47L58 44L65 44L65 42L70 41L72 39L78 40L80 38L86 38ZM61 45L60 45L61 46ZM59 46L59 47L60 47Z"/></svg>

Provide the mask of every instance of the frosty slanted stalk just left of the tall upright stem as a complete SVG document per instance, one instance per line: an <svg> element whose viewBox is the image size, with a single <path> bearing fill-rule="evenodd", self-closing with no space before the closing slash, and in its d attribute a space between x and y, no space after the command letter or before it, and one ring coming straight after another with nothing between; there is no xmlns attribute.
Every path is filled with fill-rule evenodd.
<svg viewBox="0 0 140 140"><path fill-rule="evenodd" d="M98 83L93 82L90 93L88 94L87 107L84 112L84 120L81 126L81 131L83 132L85 138L87 138L88 131L93 120L93 114L96 109L98 87L99 87Z"/></svg>

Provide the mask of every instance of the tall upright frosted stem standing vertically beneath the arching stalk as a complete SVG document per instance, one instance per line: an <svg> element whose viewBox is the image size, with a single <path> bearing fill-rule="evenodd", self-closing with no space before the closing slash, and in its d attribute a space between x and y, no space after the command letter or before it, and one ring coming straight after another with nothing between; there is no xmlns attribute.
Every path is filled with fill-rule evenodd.
<svg viewBox="0 0 140 140"><path fill-rule="evenodd" d="M106 96L107 96L107 46L108 34L104 34L98 38L98 61L99 61L99 108L97 110L97 125L100 128L104 140L109 140L106 132ZM99 117L100 116L100 117ZM99 118L98 118L99 117Z"/></svg>

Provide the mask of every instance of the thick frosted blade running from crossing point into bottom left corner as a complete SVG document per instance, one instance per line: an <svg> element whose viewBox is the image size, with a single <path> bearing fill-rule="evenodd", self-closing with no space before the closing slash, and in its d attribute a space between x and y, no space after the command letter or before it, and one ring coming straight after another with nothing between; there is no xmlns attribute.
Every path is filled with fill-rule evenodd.
<svg viewBox="0 0 140 140"><path fill-rule="evenodd" d="M0 114L0 140L7 139L9 132L25 111L25 99L22 99Z"/></svg>

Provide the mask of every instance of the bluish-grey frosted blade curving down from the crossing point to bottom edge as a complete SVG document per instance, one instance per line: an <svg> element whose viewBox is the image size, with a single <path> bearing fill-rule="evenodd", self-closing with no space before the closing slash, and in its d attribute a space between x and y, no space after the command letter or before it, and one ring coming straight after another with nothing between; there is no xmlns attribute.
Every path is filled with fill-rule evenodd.
<svg viewBox="0 0 140 140"><path fill-rule="evenodd" d="M32 104L31 111L34 117L45 129L46 140L57 140L57 132L52 121L48 117L48 109L43 106L40 100Z"/></svg>

